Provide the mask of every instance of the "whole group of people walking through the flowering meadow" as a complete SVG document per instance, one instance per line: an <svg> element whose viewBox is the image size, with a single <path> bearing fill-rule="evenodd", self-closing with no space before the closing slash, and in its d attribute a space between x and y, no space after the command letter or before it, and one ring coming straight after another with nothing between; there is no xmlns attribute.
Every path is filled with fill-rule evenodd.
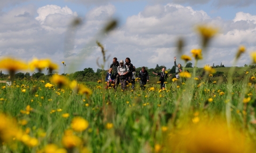
<svg viewBox="0 0 256 153"><path fill-rule="evenodd" d="M179 78L179 73L182 71L181 65L176 65L176 57L174 57L174 65L175 65L175 77ZM162 68L161 73L153 74L160 76L159 81L161 82L161 88L165 87L165 80L168 77L168 73L165 72L165 68ZM171 76L170 74L169 76ZM140 78L140 87L142 90L145 89L145 85L149 82L148 71L145 67L142 67L139 76L136 75L135 67L132 65L130 58L125 59L125 63L123 60L117 61L117 58L113 58L113 63L111 63L109 71L106 75L107 86L113 85L114 88L117 88L119 83L121 84L122 90L125 90L127 83L131 83L132 89L134 89L135 79Z"/></svg>

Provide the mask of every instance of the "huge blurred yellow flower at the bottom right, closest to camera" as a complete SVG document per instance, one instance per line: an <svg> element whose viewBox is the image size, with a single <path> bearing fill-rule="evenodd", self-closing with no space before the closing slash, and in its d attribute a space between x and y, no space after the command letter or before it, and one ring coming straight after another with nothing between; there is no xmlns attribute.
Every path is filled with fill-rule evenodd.
<svg viewBox="0 0 256 153"><path fill-rule="evenodd" d="M249 153L254 150L253 141L250 141L241 130L228 127L224 119L207 118L197 124L187 124L173 131L175 132L169 134L171 136L165 144L166 150L170 152Z"/></svg>

